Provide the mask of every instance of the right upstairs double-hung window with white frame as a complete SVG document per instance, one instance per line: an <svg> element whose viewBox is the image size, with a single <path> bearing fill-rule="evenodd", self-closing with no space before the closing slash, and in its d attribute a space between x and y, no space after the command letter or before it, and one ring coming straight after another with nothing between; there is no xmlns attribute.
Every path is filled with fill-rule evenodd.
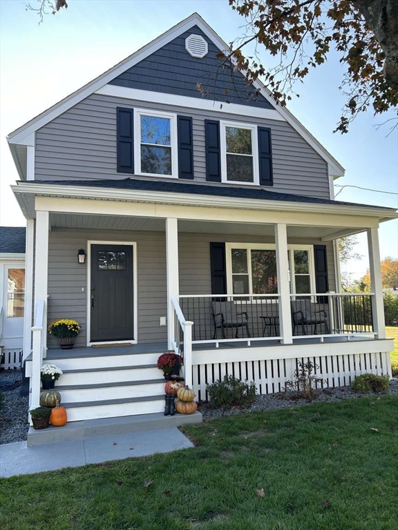
<svg viewBox="0 0 398 530"><path fill-rule="evenodd" d="M258 184L258 148L255 126L221 122L222 181Z"/></svg>

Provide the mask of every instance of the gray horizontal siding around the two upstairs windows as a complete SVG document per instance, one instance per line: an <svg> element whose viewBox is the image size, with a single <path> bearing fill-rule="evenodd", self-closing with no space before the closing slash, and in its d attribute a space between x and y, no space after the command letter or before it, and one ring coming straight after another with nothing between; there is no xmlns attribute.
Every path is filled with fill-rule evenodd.
<svg viewBox="0 0 398 530"><path fill-rule="evenodd" d="M37 131L35 178L84 181L131 177L116 170L117 106L166 110L191 116L193 168L197 182L206 182L205 119L228 119L267 126L272 130L274 186L266 189L330 198L325 160L286 121L226 115L216 110L184 109L95 94Z"/></svg>

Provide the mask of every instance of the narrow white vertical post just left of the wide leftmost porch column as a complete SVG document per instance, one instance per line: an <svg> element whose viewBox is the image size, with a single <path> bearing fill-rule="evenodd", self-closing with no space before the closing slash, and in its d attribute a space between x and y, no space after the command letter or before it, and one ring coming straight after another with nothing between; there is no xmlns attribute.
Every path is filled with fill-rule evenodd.
<svg viewBox="0 0 398 530"><path fill-rule="evenodd" d="M23 359L32 351L32 303L33 303L33 239L35 237L35 221L26 221L25 247L25 311L23 316Z"/></svg>

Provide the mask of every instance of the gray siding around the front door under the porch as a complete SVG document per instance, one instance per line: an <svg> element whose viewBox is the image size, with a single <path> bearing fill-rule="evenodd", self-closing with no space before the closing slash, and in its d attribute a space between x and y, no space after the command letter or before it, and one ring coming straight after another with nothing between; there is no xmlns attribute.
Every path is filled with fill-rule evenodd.
<svg viewBox="0 0 398 530"><path fill-rule="evenodd" d="M48 248L48 321L74 318L82 325L77 346L86 345L87 265L77 263L77 251L89 240L137 243L138 340L164 342L167 327L166 242L163 232L127 230L77 230L54 228ZM57 340L48 337L48 346Z"/></svg>

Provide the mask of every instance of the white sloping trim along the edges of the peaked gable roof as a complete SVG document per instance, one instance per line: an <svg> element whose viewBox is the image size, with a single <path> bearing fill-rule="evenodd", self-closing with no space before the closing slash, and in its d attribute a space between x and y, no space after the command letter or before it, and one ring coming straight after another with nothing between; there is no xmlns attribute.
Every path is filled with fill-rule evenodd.
<svg viewBox="0 0 398 530"><path fill-rule="evenodd" d="M222 41L222 39L214 32L214 30L200 17L198 13L193 13L186 19L182 20L180 23L178 23L176 26L173 26L173 28L167 30L167 32L164 32L162 35L151 41L150 43L146 44L143 48L140 48L137 52L133 53L133 55L130 55L129 57L126 57L123 61L118 63L117 65L113 66L113 68L110 68L106 72L104 72L99 77L93 79L90 83L82 86L82 88L79 88L73 94L70 94L66 98L59 101L57 104L53 105L52 107L48 108L44 112L41 112L37 117L31 119L28 121L25 125L19 127L18 129L14 130L10 135L8 135L8 141L10 144L26 144L26 142L29 142L29 145L32 145L32 133L43 127L44 125L48 124L49 121L52 121L59 115L61 115L62 112L65 112L70 107L73 107L82 99L88 97L89 95L93 94L99 88L104 87L106 84L109 83L109 81L112 81L112 79L115 79L118 75L122 74L122 72L125 72L129 68L135 66L138 62L142 61L146 57L149 57L153 52L156 50L159 50L162 48L162 46L166 45L178 35L181 35L183 32L189 30L192 26L198 26L200 30L211 40L213 43L222 51L228 49L227 43ZM234 61L232 61L234 62ZM245 72L243 72L245 74ZM329 168L329 174L333 175L334 177L341 177L344 175L344 168L339 164L339 162L330 155L328 150L326 150L316 138L314 138L309 131L297 120L292 113L287 110L287 108L281 107L280 105L276 105L276 102L272 99L270 96L269 90L265 88L265 86L260 81L254 82L254 87L258 88L260 90L261 95L269 101L272 106L275 107L276 112L278 112L296 131L307 141L308 144L314 148L316 153L318 153L327 163ZM154 97L158 97L158 93L154 92ZM195 99L195 98L192 98Z"/></svg>

